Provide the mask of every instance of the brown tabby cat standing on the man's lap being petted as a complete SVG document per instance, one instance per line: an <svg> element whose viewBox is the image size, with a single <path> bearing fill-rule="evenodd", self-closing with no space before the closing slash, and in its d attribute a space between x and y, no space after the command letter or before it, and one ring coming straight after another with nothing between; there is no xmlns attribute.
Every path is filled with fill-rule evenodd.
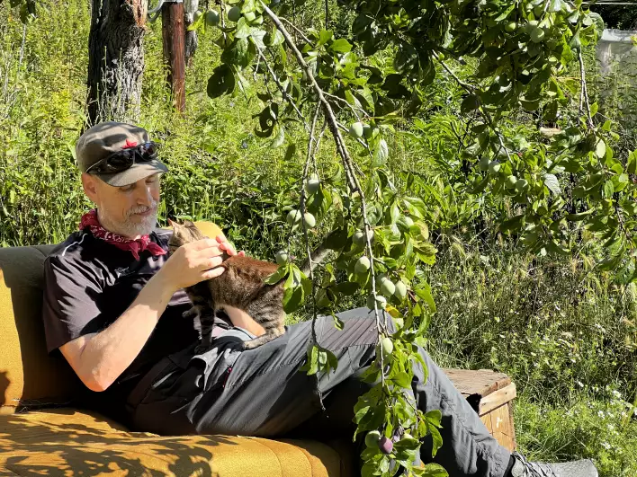
<svg viewBox="0 0 637 477"><path fill-rule="evenodd" d="M173 236L168 243L172 254L185 243L207 238L190 220L184 225L173 225ZM278 268L274 263L258 261L249 257L223 253L225 268L219 277L211 278L185 288L193 302L186 315L199 315L202 323L202 343L197 352L210 349L215 312L224 306L233 306L249 314L265 330L265 334L243 342L243 349L255 349L274 340L285 332L285 313L283 312L283 280L276 285L267 285L264 278L272 275Z"/></svg>

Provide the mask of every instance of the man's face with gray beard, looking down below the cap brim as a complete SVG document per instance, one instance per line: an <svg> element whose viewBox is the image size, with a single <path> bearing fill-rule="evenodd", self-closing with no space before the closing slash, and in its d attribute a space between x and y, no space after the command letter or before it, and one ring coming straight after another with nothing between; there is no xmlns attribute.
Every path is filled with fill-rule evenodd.
<svg viewBox="0 0 637 477"><path fill-rule="evenodd" d="M82 174L89 199L97 206L100 224L116 234L137 238L157 224L160 174L122 187L113 187L91 174Z"/></svg>

